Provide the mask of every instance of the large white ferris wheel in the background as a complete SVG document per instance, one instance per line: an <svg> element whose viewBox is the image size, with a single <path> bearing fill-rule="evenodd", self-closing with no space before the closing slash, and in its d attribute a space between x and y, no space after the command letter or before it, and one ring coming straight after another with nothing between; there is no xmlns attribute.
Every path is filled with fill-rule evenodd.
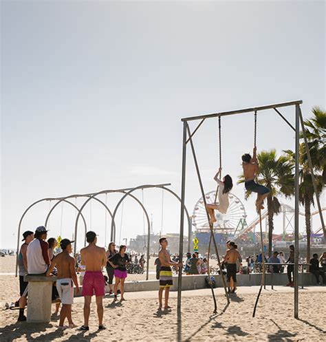
<svg viewBox="0 0 326 342"><path fill-rule="evenodd" d="M207 204L214 203L215 193L216 191L210 191L209 193L206 193L205 198ZM229 193L228 199L230 205L225 214L215 210L215 217L217 221L214 223L213 227L222 232L225 231L226 233L232 233L232 231L237 229L239 223L243 222L243 220L246 220L247 214L245 207L243 206L241 200L239 200L239 197L233 193ZM209 228L204 200L202 197L199 198L193 210L193 226L195 226L197 230Z"/></svg>

